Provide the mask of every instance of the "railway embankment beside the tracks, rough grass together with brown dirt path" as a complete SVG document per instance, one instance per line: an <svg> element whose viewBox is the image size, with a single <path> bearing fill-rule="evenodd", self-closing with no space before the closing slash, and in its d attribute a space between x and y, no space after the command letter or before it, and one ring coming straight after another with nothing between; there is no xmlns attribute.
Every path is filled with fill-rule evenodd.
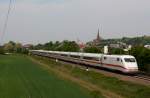
<svg viewBox="0 0 150 98"><path fill-rule="evenodd" d="M149 98L150 87L106 76L99 72L85 71L72 64L63 64L49 58L32 56L32 60L43 65L46 70L53 70L58 76L75 82L93 91L95 96L103 94L107 98Z"/></svg>

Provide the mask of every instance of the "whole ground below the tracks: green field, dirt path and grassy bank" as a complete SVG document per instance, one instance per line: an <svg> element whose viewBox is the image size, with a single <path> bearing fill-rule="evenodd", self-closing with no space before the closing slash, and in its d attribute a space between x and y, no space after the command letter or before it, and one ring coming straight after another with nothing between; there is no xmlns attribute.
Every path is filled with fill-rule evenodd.
<svg viewBox="0 0 150 98"><path fill-rule="evenodd" d="M0 98L149 98L150 87L48 58L0 55Z"/></svg>

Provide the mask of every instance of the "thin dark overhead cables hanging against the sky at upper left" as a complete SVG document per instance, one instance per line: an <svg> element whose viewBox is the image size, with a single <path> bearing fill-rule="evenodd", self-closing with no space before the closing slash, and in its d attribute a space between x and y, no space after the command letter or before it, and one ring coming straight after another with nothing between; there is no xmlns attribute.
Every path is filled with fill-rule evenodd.
<svg viewBox="0 0 150 98"><path fill-rule="evenodd" d="M8 11L7 11L6 19L5 19L5 22L4 22L4 28L2 30L0 45L2 45L2 41L3 41L4 35L6 33L6 29L7 29L7 25L8 25L8 18L9 18L10 11L11 11L11 5L12 5L12 0L9 1Z"/></svg>

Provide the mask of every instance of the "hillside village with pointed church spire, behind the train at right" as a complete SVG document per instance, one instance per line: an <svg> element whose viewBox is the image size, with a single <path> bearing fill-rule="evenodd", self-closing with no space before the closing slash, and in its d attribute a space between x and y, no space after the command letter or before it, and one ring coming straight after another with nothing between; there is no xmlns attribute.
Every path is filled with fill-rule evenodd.
<svg viewBox="0 0 150 98"><path fill-rule="evenodd" d="M130 42L131 44L128 43L128 42L125 43L123 39L131 40L131 42ZM143 41L146 40L146 43L143 43L142 41L139 42L141 39ZM137 40L137 42L134 42L136 40ZM132 46L136 46L136 45L142 45L145 48L150 49L150 36L135 37L135 38L122 38L122 39L103 39L100 36L100 32L99 32L99 29L98 29L97 37L93 41L90 41L90 42L86 43L86 46L95 46L95 47L108 46L109 48L124 49L124 51L128 51L129 49L132 48Z"/></svg>

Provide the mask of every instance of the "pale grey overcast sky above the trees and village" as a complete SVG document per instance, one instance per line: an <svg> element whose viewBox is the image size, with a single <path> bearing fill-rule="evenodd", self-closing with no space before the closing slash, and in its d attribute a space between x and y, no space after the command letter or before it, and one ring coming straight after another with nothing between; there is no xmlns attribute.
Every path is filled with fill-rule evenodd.
<svg viewBox="0 0 150 98"><path fill-rule="evenodd" d="M0 35L9 0L0 0ZM3 43L150 35L150 0L12 0Z"/></svg>

